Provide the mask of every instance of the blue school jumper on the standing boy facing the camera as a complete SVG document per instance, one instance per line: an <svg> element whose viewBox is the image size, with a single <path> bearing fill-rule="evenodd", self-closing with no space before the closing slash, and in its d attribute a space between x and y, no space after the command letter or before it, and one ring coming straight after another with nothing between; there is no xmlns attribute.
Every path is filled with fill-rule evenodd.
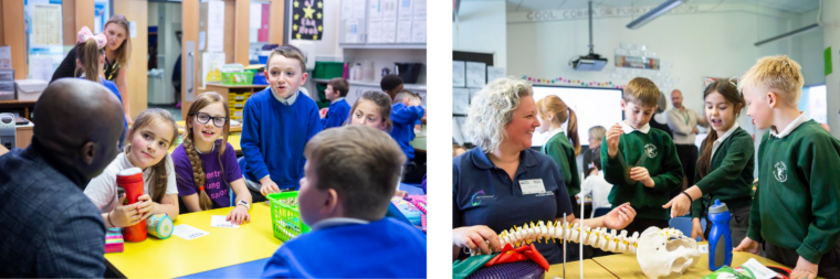
<svg viewBox="0 0 840 279"><path fill-rule="evenodd" d="M271 87L254 94L245 101L242 122L245 179L259 182L271 174L280 189L297 189L306 163L303 149L318 131L318 107L309 96L297 92L297 99L284 105Z"/></svg>

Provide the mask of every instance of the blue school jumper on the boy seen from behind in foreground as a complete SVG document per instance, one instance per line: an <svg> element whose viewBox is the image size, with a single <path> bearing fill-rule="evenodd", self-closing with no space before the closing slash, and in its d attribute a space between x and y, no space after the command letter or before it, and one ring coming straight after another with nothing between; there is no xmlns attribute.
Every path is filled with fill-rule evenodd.
<svg viewBox="0 0 840 279"><path fill-rule="evenodd" d="M298 236L277 249L262 278L426 278L426 235L393 218Z"/></svg>

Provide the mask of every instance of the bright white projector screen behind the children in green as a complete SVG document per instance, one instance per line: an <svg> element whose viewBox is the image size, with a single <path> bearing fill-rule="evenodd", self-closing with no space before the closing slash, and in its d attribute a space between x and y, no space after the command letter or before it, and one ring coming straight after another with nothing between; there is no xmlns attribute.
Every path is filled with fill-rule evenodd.
<svg viewBox="0 0 840 279"><path fill-rule="evenodd" d="M612 125L623 120L621 111L621 94L618 88L589 88L589 87L561 87L561 86L534 86L534 101L538 101L548 95L560 97L566 105L575 110L578 117L578 137L581 146L588 146L589 128L603 126L609 129ZM566 132L564 130L564 132ZM546 133L534 132L531 144L543 146ZM568 135L566 135L568 136Z"/></svg>

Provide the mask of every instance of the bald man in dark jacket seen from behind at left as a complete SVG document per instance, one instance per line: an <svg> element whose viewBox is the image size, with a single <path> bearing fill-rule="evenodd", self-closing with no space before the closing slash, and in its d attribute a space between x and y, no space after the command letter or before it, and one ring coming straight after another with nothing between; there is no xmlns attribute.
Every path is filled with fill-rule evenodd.
<svg viewBox="0 0 840 279"><path fill-rule="evenodd" d="M0 277L103 277L105 223L83 190L117 154L123 105L63 78L34 115L32 144L0 157Z"/></svg>

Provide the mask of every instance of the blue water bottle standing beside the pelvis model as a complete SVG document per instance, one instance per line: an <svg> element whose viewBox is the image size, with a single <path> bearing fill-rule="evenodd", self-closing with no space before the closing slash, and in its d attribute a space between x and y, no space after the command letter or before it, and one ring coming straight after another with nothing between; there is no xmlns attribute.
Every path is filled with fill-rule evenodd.
<svg viewBox="0 0 840 279"><path fill-rule="evenodd" d="M712 232L708 234L708 269L717 270L732 265L732 230L729 229L729 208L721 200L708 207Z"/></svg>

